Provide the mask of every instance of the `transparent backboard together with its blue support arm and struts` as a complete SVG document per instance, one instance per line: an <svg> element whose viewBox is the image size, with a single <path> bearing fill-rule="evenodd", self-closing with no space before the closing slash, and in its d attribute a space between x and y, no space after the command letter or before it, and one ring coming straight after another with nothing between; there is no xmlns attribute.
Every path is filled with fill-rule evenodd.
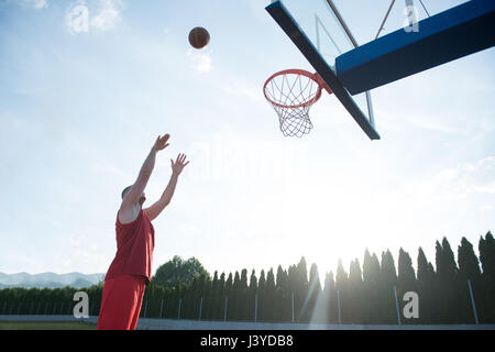
<svg viewBox="0 0 495 352"><path fill-rule="evenodd" d="M407 22L378 37L392 1L376 38L364 45L334 0L273 1L265 9L366 135L380 140L370 89L495 46L495 1L457 2L430 16L420 1L428 18L417 21L414 0L405 0Z"/></svg>

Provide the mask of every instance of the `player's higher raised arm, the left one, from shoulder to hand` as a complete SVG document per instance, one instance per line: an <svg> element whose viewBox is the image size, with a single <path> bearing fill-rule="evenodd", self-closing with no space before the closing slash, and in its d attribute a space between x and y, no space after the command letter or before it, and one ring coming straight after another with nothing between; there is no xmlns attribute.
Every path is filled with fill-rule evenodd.
<svg viewBox="0 0 495 352"><path fill-rule="evenodd" d="M156 153L168 146L167 141L169 138L170 138L169 134L165 134L163 138L158 135L155 144L150 151L150 154L144 161L143 166L141 166L138 179L135 180L134 185L132 185L131 189L123 197L120 209L129 209L140 200L140 197L144 191L144 188L146 188L150 176L153 173L153 168L155 167Z"/></svg>

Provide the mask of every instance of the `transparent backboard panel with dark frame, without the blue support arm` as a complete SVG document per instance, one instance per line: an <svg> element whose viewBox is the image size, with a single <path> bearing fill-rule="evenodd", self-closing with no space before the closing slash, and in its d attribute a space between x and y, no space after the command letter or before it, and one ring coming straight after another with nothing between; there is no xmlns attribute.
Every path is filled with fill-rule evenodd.
<svg viewBox="0 0 495 352"><path fill-rule="evenodd" d="M266 11L296 44L318 75L371 140L375 130L370 91L351 96L336 74L336 58L359 46L332 0L273 1Z"/></svg>

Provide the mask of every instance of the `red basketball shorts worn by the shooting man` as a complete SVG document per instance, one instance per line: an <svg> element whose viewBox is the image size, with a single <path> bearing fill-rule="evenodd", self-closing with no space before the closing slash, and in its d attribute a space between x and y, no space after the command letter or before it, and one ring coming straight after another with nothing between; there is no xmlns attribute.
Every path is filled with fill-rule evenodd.
<svg viewBox="0 0 495 352"><path fill-rule="evenodd" d="M145 286L144 276L136 275L106 280L97 330L135 330Z"/></svg>

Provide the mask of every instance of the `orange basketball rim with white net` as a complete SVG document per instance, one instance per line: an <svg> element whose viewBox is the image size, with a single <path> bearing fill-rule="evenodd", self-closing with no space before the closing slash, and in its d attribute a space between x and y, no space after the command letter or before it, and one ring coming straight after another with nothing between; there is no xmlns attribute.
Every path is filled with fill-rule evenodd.
<svg viewBox="0 0 495 352"><path fill-rule="evenodd" d="M285 136L301 136L312 129L309 108L321 97L321 90L332 94L318 74L304 69L286 69L270 77L263 86L266 100L278 114Z"/></svg>

